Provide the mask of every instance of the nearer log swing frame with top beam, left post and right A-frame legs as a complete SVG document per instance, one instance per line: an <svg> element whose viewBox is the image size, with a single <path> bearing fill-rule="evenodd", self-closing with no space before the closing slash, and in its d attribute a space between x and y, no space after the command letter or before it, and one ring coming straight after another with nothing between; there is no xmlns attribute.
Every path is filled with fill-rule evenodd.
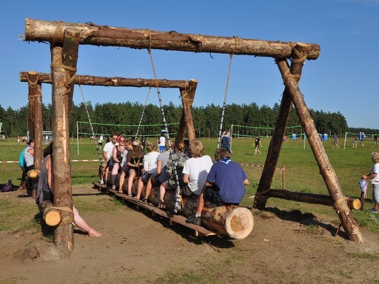
<svg viewBox="0 0 379 284"><path fill-rule="evenodd" d="M349 208L349 199L342 193L336 172L332 167L325 149L320 142L318 132L305 104L303 94L298 87L298 81L306 59L315 60L320 54L320 46L314 43L291 43L283 41L263 41L256 39L239 39L238 46L233 37L214 37L202 34L181 34L178 32L160 32L141 29L114 28L110 26L97 26L94 23L65 23L62 21L41 21L25 19L25 41L50 42L52 52L51 82L53 106L53 138L54 156L59 163L53 165L55 172L55 185L59 189L57 199L61 206L72 206L71 179L70 179L70 153L68 123L72 106L72 94L75 83L76 61L78 59L79 45L118 46L135 49L177 50L185 52L213 52L234 55L253 55L256 57L272 57L278 65L283 77L285 90L283 92L280 109L276 120L276 128L269 145L267 159L260 178L260 183L254 200L254 207L264 209L269 196L298 200L309 203L318 203L311 194L302 196L301 193L292 192L285 197L276 196L271 190L274 171L283 143L283 135L289 120L292 105L296 108L300 123L307 134L309 145L314 153L320 174L329 191L336 213L340 218L347 237L363 243L362 234L358 224ZM291 61L291 65L287 60ZM28 79L34 83L37 79ZM83 84L83 78L81 77ZM36 83L34 83L35 85ZM30 89L35 88L31 86ZM39 95L30 92L32 96ZM183 100L183 96L182 96ZM188 105L188 104L187 104ZM190 115L185 110L184 116ZM33 117L33 116L30 116ZM183 117L183 116L182 116ZM183 117L183 121L188 117ZM183 132L185 124L181 123L178 135ZM188 138L194 139L195 132L192 125L187 124ZM189 136L192 135L192 136ZM35 136L35 135L34 135ZM36 141L38 145L38 142ZM61 226L61 234L70 236L70 224ZM65 243L56 243L56 246L72 250L72 236L65 238ZM71 247L71 248L70 248Z"/></svg>

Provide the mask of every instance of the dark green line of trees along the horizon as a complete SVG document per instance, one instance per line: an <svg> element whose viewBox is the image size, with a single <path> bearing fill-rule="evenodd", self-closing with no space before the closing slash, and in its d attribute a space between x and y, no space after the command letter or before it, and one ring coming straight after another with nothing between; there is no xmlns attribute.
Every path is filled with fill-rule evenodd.
<svg viewBox="0 0 379 284"><path fill-rule="evenodd" d="M87 105L87 108L85 107ZM133 136L136 127L127 129L126 127L120 128L114 125L139 125L143 107L141 103L96 103L92 105L88 103L80 103L79 105L73 104L72 113L70 116L70 136L76 136L76 121L89 121L88 113L92 123L103 123L110 125L94 125L94 133L96 134L111 134L112 132L125 133ZM276 125L276 118L278 115L280 106L275 103L273 108L268 105L258 106L256 103L237 105L235 103L226 105L225 116L223 121L223 129L229 130L231 125L243 125L256 128L253 129L254 134L267 135L269 128L274 128ZM174 105L170 102L168 105L163 106L165 112L165 119L167 123L178 123L181 120L181 114L183 108L181 105ZM337 134L338 136L345 135L345 132L359 133L361 131L369 133L378 133L379 130L369 128L349 128L345 116L340 112L323 112L322 110L309 110L314 119L316 129L320 134ZM196 136L204 137L216 137L218 135L218 129L220 127L222 108L219 105L207 106L193 106L192 115L194 119L194 125L196 129ZM42 120L43 130L52 130L52 105L47 104L42 106ZM13 110L11 107L4 109L0 105L0 122L3 124L1 134L6 136L23 136L28 131L28 105L19 108L19 110ZM163 123L163 116L161 109L157 105L148 104L145 107L142 123L143 125L156 125ZM113 125L114 124L114 125ZM291 109L289 116L288 126L300 125L300 121L296 114L295 108ZM170 126L171 131L174 126ZM177 125L176 125L177 127ZM267 129L262 129L267 128ZM161 126L150 126L141 129L141 134L159 134ZM90 125L81 125L80 132L92 133ZM251 135L252 130L240 128L238 130L240 134L249 132ZM286 135L303 133L302 128L289 129Z"/></svg>

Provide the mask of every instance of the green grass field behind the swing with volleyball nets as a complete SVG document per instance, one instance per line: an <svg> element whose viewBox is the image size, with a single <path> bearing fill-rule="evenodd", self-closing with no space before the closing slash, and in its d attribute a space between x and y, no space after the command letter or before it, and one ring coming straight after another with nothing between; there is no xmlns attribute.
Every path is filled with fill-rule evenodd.
<svg viewBox="0 0 379 284"><path fill-rule="evenodd" d="M201 139L205 145L205 152L213 158L216 149L216 139ZM342 141L342 139L340 139ZM242 205L251 206L252 199L249 196L254 195L258 187L262 168L254 165L264 165L269 145L269 139L261 139L263 147L260 148L263 155L254 156L254 140L248 138L235 138L232 141L232 159L238 163L247 163L243 165L250 185L247 187L247 197L243 200ZM365 148L351 148L350 143L346 149L343 145L340 148L332 148L331 140L324 141L324 147L333 166L342 190L346 196L360 198L360 189L358 180L362 174L367 174L372 166L371 152L379 150L372 148L372 144L366 143ZM17 161L19 153L25 145L17 145L16 139L0 141L0 161ZM94 141L84 139L79 145L79 155L76 146L76 140L70 144L71 156L76 159L99 159L99 154L95 148ZM72 185L91 185L94 181L99 181L98 169L99 162L72 162ZM272 187L283 188L283 172L280 167L285 167L285 188L294 192L309 192L316 194L329 194L327 187L320 175L318 165L314 159L313 152L308 144L305 145L303 140L287 141L283 143L280 157L278 159L278 169L274 174ZM21 179L21 170L17 163L0 163L0 183L5 183L12 179L14 185L19 185ZM371 186L369 187L368 199L365 203L365 211L355 210L354 217L361 226L368 227L373 232L379 233L379 216L374 216L369 212L373 207L371 199ZM331 207L322 205L311 205L307 203L298 203L294 201L285 201L282 199L269 199L268 207L283 207L287 210L302 210L303 212L317 212L318 214L336 213ZM336 216L336 221L338 217Z"/></svg>

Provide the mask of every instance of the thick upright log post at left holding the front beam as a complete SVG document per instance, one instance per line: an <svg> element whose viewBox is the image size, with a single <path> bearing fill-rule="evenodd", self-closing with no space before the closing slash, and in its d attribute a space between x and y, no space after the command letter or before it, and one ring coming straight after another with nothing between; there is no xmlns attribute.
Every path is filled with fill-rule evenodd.
<svg viewBox="0 0 379 284"><path fill-rule="evenodd" d="M52 51L52 108L53 108L53 153L54 205L72 209L71 164L69 120L72 109L74 74L78 59L80 32L67 28L63 34L61 25L57 25ZM62 43L63 42L63 45ZM61 222L54 231L54 244L65 256L74 248L72 211L62 210Z"/></svg>

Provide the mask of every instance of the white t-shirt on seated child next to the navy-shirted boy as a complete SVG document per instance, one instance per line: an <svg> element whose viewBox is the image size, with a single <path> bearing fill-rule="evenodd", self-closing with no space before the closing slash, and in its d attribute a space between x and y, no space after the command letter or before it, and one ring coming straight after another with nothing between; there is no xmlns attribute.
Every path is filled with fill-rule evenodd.
<svg viewBox="0 0 379 284"><path fill-rule="evenodd" d="M207 181L207 176L212 168L212 159L208 155L200 158L190 158L185 161L183 174L189 174L189 190L196 195L201 194L201 190Z"/></svg>

